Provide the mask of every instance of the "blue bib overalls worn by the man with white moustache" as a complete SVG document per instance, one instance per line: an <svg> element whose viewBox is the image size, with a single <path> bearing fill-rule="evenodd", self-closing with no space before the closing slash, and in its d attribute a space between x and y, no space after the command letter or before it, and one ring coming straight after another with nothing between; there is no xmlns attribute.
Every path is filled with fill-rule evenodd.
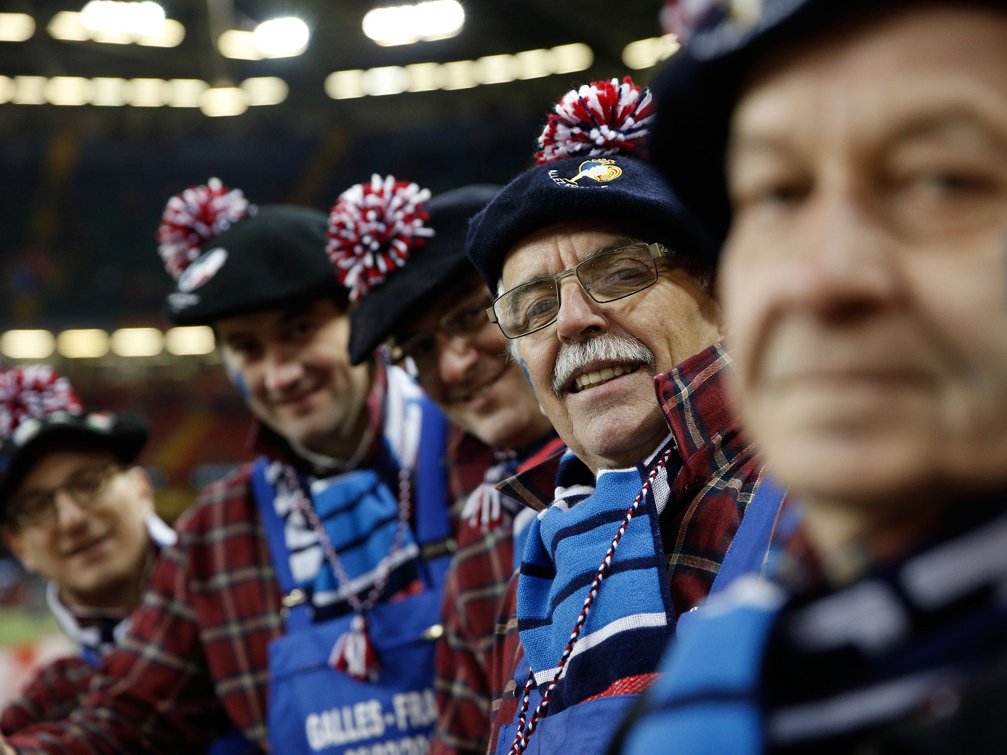
<svg viewBox="0 0 1007 755"><path fill-rule="evenodd" d="M744 574L758 573L762 569L769 541L772 537L776 513L785 494L769 477L765 477L755 491L745 515L741 518L738 531L727 549L724 561L710 588L710 594L720 592L733 580ZM686 612L679 617L676 631L680 631L688 623ZM528 681L528 659L521 656L518 668L514 674L516 694L523 695L525 683ZM542 718L528 741L525 749L527 755L557 755L571 753L576 755L601 755L608 746L608 740L614 734L618 724L625 717L629 706L639 698L638 694L609 695L594 698L571 706L552 716ZM529 696L528 717L531 718L542 696L538 688L532 690ZM514 721L500 727L496 740L495 755L507 755L514 744L518 730L518 713ZM656 751L666 750L664 746ZM711 751L712 752L712 751Z"/></svg>

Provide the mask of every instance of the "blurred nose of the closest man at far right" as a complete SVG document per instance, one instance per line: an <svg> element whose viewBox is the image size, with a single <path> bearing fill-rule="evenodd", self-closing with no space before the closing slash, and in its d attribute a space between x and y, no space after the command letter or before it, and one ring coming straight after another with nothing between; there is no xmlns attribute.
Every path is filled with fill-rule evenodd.
<svg viewBox="0 0 1007 755"><path fill-rule="evenodd" d="M896 244L855 190L823 191L805 218L787 288L827 318L856 319L890 307L905 292Z"/></svg>

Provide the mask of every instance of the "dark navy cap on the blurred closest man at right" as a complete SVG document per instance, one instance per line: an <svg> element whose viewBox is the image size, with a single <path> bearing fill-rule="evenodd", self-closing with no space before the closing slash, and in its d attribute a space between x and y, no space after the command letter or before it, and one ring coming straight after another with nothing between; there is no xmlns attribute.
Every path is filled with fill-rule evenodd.
<svg viewBox="0 0 1007 755"><path fill-rule="evenodd" d="M1005 0L977 0L1007 8ZM692 8L685 46L654 84L658 114L652 161L718 243L727 236L730 205L724 152L731 113L746 77L767 51L860 14L912 0L707 0ZM976 4L976 3L971 3ZM745 9L757 7L755 16Z"/></svg>

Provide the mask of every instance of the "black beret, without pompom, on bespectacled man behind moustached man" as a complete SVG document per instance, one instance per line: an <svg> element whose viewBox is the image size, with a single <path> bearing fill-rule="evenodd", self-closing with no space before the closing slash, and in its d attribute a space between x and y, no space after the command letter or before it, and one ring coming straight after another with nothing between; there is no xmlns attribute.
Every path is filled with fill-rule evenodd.
<svg viewBox="0 0 1007 755"><path fill-rule="evenodd" d="M465 257L468 218L486 205L499 186L474 184L438 194L426 202L434 235L412 250L406 264L388 274L353 307L350 315L349 357L354 364L371 352L415 313L427 296L462 280L471 264Z"/></svg>

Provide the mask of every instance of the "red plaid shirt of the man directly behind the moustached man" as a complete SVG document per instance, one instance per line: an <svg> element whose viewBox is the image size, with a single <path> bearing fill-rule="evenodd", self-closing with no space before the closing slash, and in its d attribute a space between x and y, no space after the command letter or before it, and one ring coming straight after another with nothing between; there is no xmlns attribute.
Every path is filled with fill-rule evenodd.
<svg viewBox="0 0 1007 755"><path fill-rule="evenodd" d="M554 438L525 464L562 449ZM484 479L492 450L470 435L452 449L452 492L462 501ZM489 732L489 666L499 601L514 573L514 517L501 506L488 531L462 520L458 550L444 585L444 635L437 645L434 687L440 717L431 755L482 755Z"/></svg>

